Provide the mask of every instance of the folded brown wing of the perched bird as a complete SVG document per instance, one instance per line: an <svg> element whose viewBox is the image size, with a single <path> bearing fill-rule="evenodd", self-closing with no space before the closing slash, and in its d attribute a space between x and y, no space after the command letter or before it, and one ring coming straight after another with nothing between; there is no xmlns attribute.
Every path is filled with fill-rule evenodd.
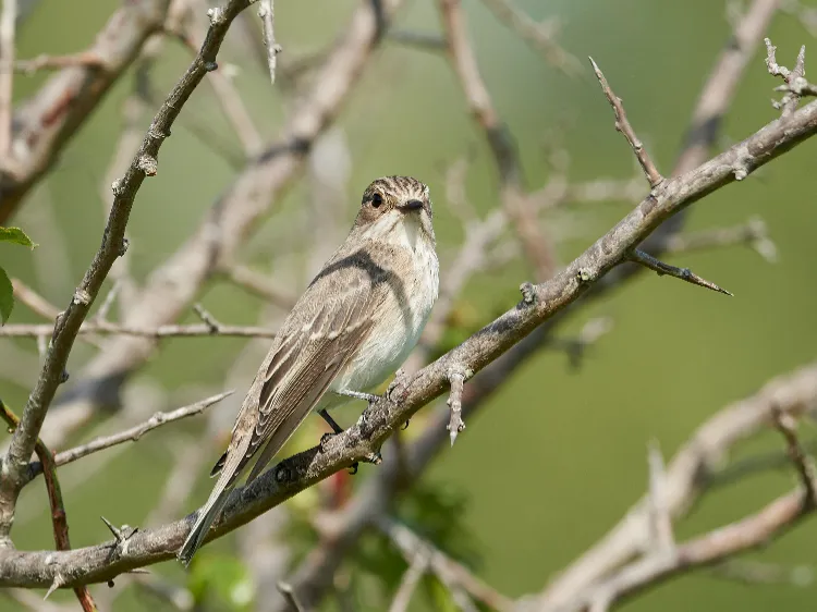
<svg viewBox="0 0 817 612"><path fill-rule="evenodd" d="M337 282L340 278L342 284ZM304 297L320 294L322 304L313 309L313 318L302 318L300 325L284 325L286 331L276 343L266 372L259 372L254 383L261 384L257 408L242 409L239 421L244 423L236 423L235 430L249 439L236 444L235 450L243 451L243 456L234 458L235 476L267 444L247 482L286 443L371 330L373 314L386 296L386 283L363 270L340 278L322 280L333 285L332 291L307 291L309 295Z"/></svg>

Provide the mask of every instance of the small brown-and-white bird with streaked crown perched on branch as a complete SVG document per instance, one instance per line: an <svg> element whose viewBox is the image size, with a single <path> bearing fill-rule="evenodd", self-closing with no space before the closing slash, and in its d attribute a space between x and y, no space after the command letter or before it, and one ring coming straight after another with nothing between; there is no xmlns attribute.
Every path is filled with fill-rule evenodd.
<svg viewBox="0 0 817 612"><path fill-rule="evenodd" d="M284 319L249 387L210 473L218 480L176 554L182 564L256 455L246 484L310 412L340 433L329 411L376 400L369 392L408 357L439 291L431 218L428 186L417 179L383 176L366 187L346 240Z"/></svg>

